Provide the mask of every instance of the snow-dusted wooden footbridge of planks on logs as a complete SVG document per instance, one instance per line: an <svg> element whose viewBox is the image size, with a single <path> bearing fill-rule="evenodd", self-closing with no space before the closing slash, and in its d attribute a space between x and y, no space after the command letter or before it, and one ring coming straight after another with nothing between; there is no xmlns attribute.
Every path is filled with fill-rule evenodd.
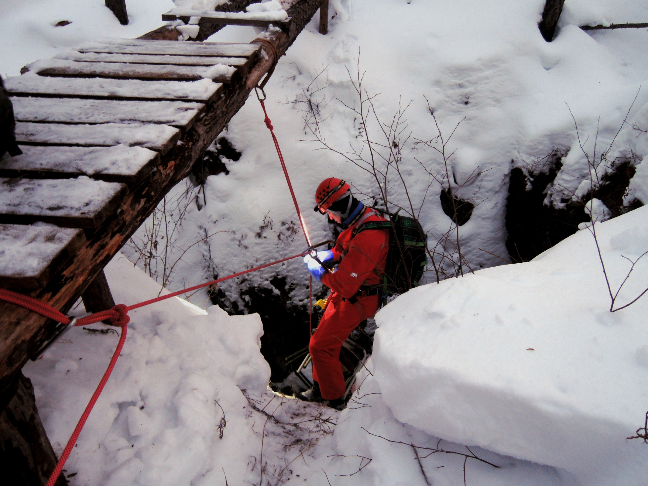
<svg viewBox="0 0 648 486"><path fill-rule="evenodd" d="M251 2L232 3L244 10ZM281 30L249 44L155 40L178 38L163 27L138 40L84 43L8 78L23 155L0 159L0 287L62 312L84 292L87 307L97 307L88 310L106 307L104 266L324 4L324 23L328 0L299 0ZM228 23L273 23L230 17L186 20L199 26L197 38ZM19 470L16 483L45 483L56 462L20 373L55 329L0 302L0 463Z"/></svg>

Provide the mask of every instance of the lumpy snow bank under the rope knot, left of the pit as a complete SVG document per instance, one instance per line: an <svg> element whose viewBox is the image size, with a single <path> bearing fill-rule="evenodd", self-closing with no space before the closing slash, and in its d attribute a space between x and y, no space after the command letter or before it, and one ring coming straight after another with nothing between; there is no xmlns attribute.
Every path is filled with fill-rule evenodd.
<svg viewBox="0 0 648 486"><path fill-rule="evenodd" d="M119 303L161 290L122 255L106 267L106 276ZM172 298L130 312L124 351L65 465L67 474L78 472L76 484L213 484L223 480L223 469L231 484L251 481L248 459L260 438L248 423L241 390L262 393L270 378L259 353L259 316L188 306ZM42 360L25 366L57 454L116 344L112 330L76 328Z"/></svg>

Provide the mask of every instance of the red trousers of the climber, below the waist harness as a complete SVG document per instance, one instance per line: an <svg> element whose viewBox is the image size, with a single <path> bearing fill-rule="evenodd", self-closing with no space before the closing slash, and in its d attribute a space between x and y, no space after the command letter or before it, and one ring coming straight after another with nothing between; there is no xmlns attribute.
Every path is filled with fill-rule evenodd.
<svg viewBox="0 0 648 486"><path fill-rule="evenodd" d="M363 299L369 302L364 302L362 308L371 307L371 312L363 312L364 316L349 301L342 300L339 294L329 297L329 304L309 345L313 360L313 379L319 383L325 400L339 399L345 391L340 349L351 331L367 318L367 314L371 316L376 311L378 297L374 297Z"/></svg>

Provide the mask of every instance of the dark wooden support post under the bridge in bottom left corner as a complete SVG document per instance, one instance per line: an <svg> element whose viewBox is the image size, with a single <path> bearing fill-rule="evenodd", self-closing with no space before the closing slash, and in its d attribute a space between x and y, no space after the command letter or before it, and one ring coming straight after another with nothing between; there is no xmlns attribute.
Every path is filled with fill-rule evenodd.
<svg viewBox="0 0 648 486"><path fill-rule="evenodd" d="M31 380L19 373L16 392L0 411L0 469L3 483L43 486L56 466L56 455L38 417ZM56 486L66 486L59 476Z"/></svg>

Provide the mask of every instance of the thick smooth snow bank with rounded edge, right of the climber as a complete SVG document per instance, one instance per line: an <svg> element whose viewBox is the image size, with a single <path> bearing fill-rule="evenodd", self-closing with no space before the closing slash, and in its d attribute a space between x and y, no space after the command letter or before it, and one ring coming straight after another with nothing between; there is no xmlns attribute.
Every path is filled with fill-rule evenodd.
<svg viewBox="0 0 648 486"><path fill-rule="evenodd" d="M597 224L616 292L648 251L648 207ZM640 260L616 307L646 287ZM561 467L583 485L639 485L648 452L626 441L648 393L648 297L618 312L580 231L531 262L411 290L376 316L373 360L395 417L428 434Z"/></svg>

